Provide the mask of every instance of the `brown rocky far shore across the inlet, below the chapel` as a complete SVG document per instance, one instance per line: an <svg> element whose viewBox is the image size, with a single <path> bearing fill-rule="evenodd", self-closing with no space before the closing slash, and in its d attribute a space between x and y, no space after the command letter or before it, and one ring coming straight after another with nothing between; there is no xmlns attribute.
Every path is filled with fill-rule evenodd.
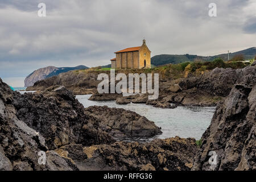
<svg viewBox="0 0 256 182"><path fill-rule="evenodd" d="M228 96L234 84L252 85L255 80L255 66L242 69L215 68L200 76L187 78L166 78L159 80L159 98L150 101L147 94L122 97L122 94L99 94L97 72L61 73L59 76L38 81L29 90L43 91L49 86L64 85L74 94L92 94L89 100L115 100L117 104L143 103L161 108L181 106L216 106Z"/></svg>

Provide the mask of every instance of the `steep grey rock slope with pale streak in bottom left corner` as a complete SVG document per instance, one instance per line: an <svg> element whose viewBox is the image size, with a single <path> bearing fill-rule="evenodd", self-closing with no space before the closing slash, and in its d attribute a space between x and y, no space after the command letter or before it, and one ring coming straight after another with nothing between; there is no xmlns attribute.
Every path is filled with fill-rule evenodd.
<svg viewBox="0 0 256 182"><path fill-rule="evenodd" d="M77 170L75 164L48 151L46 165L38 163L38 152L47 152L44 137L16 117L11 105L15 92L0 78L0 170Z"/></svg>

